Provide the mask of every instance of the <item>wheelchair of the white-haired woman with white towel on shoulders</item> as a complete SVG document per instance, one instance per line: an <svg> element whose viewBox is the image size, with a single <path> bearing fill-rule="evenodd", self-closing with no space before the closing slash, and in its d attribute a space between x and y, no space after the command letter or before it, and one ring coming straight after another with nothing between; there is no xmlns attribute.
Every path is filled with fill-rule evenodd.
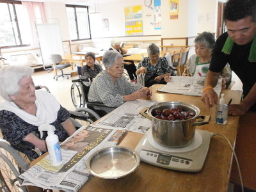
<svg viewBox="0 0 256 192"><path fill-rule="evenodd" d="M35 86L35 88L36 90L45 88L45 90L49 92L48 88L45 86ZM92 124L95 120L100 118L97 113L88 108L79 108L76 111L69 111L69 113L73 124L77 128L84 125L84 123L86 123L86 125ZM26 150L34 150L38 156L42 155L42 152L28 141L22 141L19 144L19 147ZM26 186L21 186L23 180L19 178L19 175L28 170L29 164L33 160L33 158L15 150L8 141L0 138L0 191L26 192Z"/></svg>

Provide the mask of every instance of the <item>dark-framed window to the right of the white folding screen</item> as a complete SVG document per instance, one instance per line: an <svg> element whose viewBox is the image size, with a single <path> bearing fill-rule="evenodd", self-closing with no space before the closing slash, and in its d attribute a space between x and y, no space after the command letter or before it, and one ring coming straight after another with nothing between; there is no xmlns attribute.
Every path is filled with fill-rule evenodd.
<svg viewBox="0 0 256 192"><path fill-rule="evenodd" d="M85 40L91 38L88 6L66 5L70 39Z"/></svg>

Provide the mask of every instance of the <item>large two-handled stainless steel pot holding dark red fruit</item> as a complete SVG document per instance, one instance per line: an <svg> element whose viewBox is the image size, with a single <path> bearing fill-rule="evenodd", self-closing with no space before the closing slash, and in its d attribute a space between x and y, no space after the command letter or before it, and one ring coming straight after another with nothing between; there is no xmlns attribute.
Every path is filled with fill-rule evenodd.
<svg viewBox="0 0 256 192"><path fill-rule="evenodd" d="M187 120L161 120L154 117L154 111L180 107L182 111L193 111L195 116ZM147 113L145 113L147 111ZM160 102L140 111L140 114L152 120L154 141L165 147L186 147L195 138L195 126L209 124L211 116L199 116L200 109L184 102Z"/></svg>

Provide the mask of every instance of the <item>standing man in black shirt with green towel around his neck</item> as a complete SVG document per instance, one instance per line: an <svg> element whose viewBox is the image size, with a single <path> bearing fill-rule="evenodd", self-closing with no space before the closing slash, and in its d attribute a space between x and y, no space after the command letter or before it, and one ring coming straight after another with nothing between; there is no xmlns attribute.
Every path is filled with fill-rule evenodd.
<svg viewBox="0 0 256 192"><path fill-rule="evenodd" d="M228 114L243 115L256 111L256 1L229 0L224 9L227 32L216 41L211 65L205 77L202 101L207 108L218 102L213 88L220 72L229 63L243 83L244 100L231 104Z"/></svg>

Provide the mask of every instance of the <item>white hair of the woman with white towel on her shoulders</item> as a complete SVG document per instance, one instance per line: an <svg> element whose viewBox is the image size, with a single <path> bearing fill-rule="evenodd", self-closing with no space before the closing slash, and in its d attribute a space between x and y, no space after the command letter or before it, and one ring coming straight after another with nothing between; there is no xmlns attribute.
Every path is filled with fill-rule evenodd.
<svg viewBox="0 0 256 192"><path fill-rule="evenodd" d="M9 95L15 95L19 91L20 79L31 77L34 70L28 66L10 65L0 69L0 95L3 99L12 101Z"/></svg>

